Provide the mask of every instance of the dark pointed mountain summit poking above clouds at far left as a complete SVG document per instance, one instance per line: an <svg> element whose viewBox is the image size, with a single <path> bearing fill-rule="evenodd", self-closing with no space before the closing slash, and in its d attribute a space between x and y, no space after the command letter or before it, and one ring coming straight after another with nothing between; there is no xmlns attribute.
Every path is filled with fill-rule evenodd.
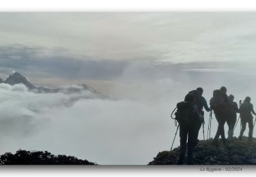
<svg viewBox="0 0 256 177"><path fill-rule="evenodd" d="M25 86L27 86L29 89L33 89L35 88L35 86L33 86L33 84L31 84L27 78L25 78L24 76L22 76L21 74L19 74L18 72L15 72L14 74L10 75L5 81L4 83L6 84L10 84L10 85L14 85L14 84L25 84Z"/></svg>

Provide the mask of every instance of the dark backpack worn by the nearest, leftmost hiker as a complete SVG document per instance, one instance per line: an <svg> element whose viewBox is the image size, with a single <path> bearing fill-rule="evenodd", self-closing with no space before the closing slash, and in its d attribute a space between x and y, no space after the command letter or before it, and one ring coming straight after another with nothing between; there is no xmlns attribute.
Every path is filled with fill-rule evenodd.
<svg viewBox="0 0 256 177"><path fill-rule="evenodd" d="M177 103L177 111L175 119L180 125L189 125L195 121L195 113L193 112L193 103L182 101Z"/></svg>

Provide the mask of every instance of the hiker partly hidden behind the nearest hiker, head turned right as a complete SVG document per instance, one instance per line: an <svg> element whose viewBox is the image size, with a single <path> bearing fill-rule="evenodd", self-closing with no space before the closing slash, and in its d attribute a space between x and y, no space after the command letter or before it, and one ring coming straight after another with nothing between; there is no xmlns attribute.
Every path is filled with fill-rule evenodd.
<svg viewBox="0 0 256 177"><path fill-rule="evenodd" d="M203 116L203 115L204 115L203 108L205 108L205 110L206 110L207 112L210 111L210 108L208 107L207 101L206 101L205 98L202 96L202 95L203 95L203 88L198 87L198 88L197 88L197 91L198 91L198 93L199 93L199 97L197 97L197 100L195 101L195 104L196 104L197 107L198 107L199 113ZM199 122L198 131L197 131L197 138L198 138L198 133L199 133L199 130L201 129L202 123L204 123L204 118L203 118L203 122ZM204 131L204 130L203 130L203 131ZM199 142L199 140L197 140L197 142Z"/></svg>

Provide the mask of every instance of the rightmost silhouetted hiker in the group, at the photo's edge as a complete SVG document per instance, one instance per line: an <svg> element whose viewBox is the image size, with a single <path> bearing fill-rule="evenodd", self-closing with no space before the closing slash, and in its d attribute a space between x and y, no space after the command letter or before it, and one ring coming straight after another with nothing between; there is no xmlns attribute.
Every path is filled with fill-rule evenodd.
<svg viewBox="0 0 256 177"><path fill-rule="evenodd" d="M240 117L242 129L240 131L240 136L238 140L242 140L242 135L244 134L244 130L246 129L246 123L248 123L249 133L248 133L248 141L251 141L253 138L253 114L256 116L256 113L253 110L253 104L251 103L251 97L246 97L241 104L240 108Z"/></svg>

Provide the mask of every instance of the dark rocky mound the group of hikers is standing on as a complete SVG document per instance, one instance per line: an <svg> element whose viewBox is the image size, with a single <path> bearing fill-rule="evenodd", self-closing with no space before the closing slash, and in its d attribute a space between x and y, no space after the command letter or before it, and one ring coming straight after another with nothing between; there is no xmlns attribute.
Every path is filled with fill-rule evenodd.
<svg viewBox="0 0 256 177"><path fill-rule="evenodd" d="M194 165L256 165L256 139L248 142L243 137L242 141L233 138L224 146L219 140L219 146L212 145L212 139L199 141L193 155ZM148 165L175 165L179 157L180 146L171 151L159 152L154 161ZM184 159L186 162L186 158Z"/></svg>

